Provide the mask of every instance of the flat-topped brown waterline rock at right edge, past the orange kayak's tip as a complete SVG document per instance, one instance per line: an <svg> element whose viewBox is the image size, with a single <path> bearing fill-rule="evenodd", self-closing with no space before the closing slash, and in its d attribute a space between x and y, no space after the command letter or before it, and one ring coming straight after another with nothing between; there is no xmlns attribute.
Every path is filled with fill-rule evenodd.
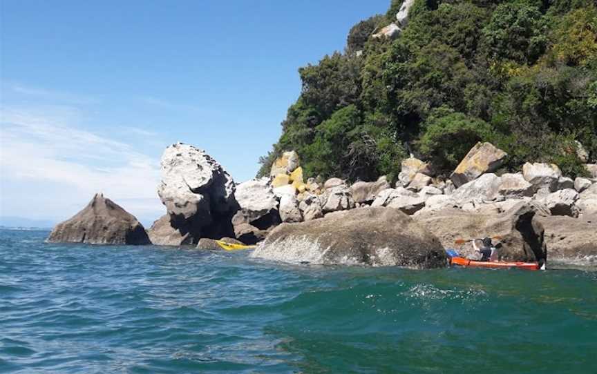
<svg viewBox="0 0 597 374"><path fill-rule="evenodd" d="M538 217L545 228L549 259L574 260L597 257L597 214L579 218Z"/></svg>

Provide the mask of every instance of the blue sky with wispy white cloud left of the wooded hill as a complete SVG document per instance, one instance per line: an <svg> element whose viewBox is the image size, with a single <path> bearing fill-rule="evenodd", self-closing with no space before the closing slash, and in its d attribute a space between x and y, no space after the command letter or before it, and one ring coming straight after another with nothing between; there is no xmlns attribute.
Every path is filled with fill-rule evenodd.
<svg viewBox="0 0 597 374"><path fill-rule="evenodd" d="M298 68L389 3L0 0L0 224L55 224L103 192L149 225L177 141L251 179Z"/></svg>

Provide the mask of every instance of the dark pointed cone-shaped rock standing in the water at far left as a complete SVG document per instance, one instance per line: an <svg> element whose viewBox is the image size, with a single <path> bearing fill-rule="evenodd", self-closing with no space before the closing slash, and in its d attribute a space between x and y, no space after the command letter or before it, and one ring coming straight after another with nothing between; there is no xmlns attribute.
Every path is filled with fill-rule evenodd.
<svg viewBox="0 0 597 374"><path fill-rule="evenodd" d="M48 242L151 244L143 225L101 193L74 217L57 224Z"/></svg>

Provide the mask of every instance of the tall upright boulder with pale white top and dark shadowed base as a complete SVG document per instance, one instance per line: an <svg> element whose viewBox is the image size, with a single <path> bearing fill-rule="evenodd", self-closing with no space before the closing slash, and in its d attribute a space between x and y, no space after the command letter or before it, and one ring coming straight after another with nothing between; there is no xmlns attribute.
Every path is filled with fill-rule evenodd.
<svg viewBox="0 0 597 374"><path fill-rule="evenodd" d="M230 219L238 209L234 181L216 160L177 143L166 148L160 165L158 195L174 228L188 230L193 241L231 233Z"/></svg>

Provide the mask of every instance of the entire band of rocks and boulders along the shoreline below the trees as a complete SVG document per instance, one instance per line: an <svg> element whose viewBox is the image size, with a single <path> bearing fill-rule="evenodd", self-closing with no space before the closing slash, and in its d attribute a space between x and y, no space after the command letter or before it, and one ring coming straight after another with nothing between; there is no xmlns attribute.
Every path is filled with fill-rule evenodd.
<svg viewBox="0 0 597 374"><path fill-rule="evenodd" d="M506 260L597 255L597 175L562 176L553 164L524 164L496 175L506 153L475 145L444 178L432 165L402 161L395 186L386 177L303 179L299 155L284 152L269 177L236 184L206 152L173 144L162 155L158 196L167 213L145 230L97 194L58 224L48 242L197 246L214 239L259 244L252 255L290 263L433 268L459 238L500 237ZM474 256L471 246L461 248Z"/></svg>

